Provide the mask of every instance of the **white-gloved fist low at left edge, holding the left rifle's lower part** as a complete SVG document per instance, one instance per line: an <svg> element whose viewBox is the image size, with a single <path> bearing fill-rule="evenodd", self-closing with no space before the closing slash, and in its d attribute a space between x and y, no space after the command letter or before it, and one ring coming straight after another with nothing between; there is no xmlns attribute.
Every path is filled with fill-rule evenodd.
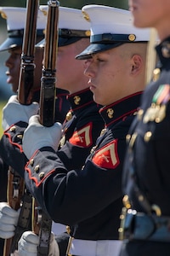
<svg viewBox="0 0 170 256"><path fill-rule="evenodd" d="M8 239L14 236L19 215L20 211L15 211L9 207L7 202L0 202L0 237Z"/></svg>

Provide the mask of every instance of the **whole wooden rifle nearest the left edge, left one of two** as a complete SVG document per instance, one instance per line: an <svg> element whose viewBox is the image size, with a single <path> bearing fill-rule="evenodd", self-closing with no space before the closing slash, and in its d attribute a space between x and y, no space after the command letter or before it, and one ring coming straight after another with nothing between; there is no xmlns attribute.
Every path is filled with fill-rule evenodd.
<svg viewBox="0 0 170 256"><path fill-rule="evenodd" d="M23 48L21 55L21 67L20 67L20 79L19 79L19 94L18 99L21 104L31 104L31 87L33 86L34 79L34 47L36 43L36 32L37 32L37 0L27 0L26 6L26 26L23 38ZM23 194L25 192L24 179L21 178L18 173L9 166L8 171L8 204L14 210L18 210L21 207L23 200ZM22 202L22 207L30 207L30 201ZM28 209L27 209L28 210ZM17 229L14 237L6 239L3 247L3 256L10 256L14 253L17 248L17 243L20 239L21 234L28 228L29 216L23 220L23 208L20 211L19 224L20 228ZM26 211L25 211L26 212ZM27 213L29 210L27 211ZM29 213L28 213L29 214Z"/></svg>

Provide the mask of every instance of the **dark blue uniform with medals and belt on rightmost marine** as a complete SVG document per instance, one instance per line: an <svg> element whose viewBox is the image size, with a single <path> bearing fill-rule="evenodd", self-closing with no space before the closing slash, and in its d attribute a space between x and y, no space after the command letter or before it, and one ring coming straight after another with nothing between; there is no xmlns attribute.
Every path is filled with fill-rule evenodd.
<svg viewBox="0 0 170 256"><path fill-rule="evenodd" d="M169 255L169 45L156 46L159 62L127 135L122 256Z"/></svg>

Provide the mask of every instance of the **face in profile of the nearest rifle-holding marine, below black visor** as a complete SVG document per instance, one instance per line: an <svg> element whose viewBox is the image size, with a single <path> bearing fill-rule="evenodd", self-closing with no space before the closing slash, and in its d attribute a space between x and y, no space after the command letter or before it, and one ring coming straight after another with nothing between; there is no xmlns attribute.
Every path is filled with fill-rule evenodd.
<svg viewBox="0 0 170 256"><path fill-rule="evenodd" d="M109 105L128 95L130 59L123 56L122 46L93 55L87 66L84 73L94 102Z"/></svg>

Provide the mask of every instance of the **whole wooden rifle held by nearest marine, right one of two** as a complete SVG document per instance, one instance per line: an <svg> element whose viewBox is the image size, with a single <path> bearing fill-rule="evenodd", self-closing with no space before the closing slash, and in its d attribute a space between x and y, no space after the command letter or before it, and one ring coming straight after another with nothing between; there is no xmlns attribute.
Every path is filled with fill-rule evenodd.
<svg viewBox="0 0 170 256"><path fill-rule="evenodd" d="M42 83L40 93L40 123L44 126L54 125L56 96L56 55L58 49L59 2L48 1L48 18L45 33L45 48L42 67ZM52 219L42 212L41 207L35 207L37 222L34 230L39 236L37 255L48 255Z"/></svg>

